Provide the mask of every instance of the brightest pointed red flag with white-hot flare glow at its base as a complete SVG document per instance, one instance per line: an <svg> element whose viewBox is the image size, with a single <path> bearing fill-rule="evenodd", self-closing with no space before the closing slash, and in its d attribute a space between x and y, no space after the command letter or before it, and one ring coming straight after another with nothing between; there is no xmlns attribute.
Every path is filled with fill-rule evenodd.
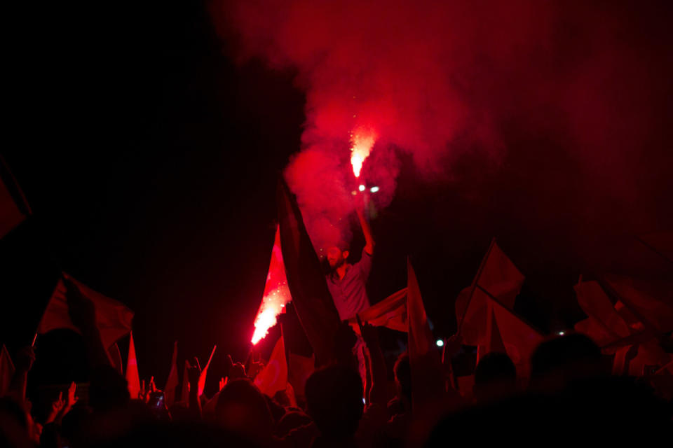
<svg viewBox="0 0 673 448"><path fill-rule="evenodd" d="M276 325L278 314L283 312L285 305L290 303L292 296L287 287L283 253L280 251L280 230L276 228L276 240L273 241L271 264L268 266L264 297L259 304L257 317L254 318L254 334L252 344L257 344L268 334L268 329Z"/></svg>

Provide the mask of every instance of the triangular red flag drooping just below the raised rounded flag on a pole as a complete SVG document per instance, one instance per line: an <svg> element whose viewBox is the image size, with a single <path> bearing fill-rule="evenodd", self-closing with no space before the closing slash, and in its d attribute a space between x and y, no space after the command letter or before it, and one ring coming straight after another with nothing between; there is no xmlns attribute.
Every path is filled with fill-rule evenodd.
<svg viewBox="0 0 673 448"><path fill-rule="evenodd" d="M503 307L497 300L489 297L489 302L505 351L517 367L518 376L520 378L530 377L531 355L543 342L543 335L517 316L514 311Z"/></svg>

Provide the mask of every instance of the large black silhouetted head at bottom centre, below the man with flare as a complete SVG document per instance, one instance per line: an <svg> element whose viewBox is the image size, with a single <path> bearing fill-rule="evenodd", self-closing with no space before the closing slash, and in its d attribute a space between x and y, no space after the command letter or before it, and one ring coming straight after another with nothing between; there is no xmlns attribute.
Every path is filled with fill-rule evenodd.
<svg viewBox="0 0 673 448"><path fill-rule="evenodd" d="M305 391L308 414L324 437L353 437L363 410L358 372L343 365L324 367L308 377Z"/></svg>

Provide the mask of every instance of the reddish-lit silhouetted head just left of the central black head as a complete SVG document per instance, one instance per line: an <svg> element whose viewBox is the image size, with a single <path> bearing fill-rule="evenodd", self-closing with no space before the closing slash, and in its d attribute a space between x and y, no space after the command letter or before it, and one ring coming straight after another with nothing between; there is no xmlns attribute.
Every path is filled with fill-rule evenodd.
<svg viewBox="0 0 673 448"><path fill-rule="evenodd" d="M264 395L247 379L229 381L219 392L217 422L226 430L264 442L271 437L273 418Z"/></svg>

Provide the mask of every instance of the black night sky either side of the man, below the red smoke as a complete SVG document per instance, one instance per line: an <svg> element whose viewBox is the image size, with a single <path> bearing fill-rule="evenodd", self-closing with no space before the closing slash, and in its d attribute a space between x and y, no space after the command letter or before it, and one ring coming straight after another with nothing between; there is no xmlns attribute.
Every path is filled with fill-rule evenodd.
<svg viewBox="0 0 673 448"><path fill-rule="evenodd" d="M135 311L142 378L163 385L174 340L179 366L212 344L214 371L225 353L243 360L273 244L276 180L304 122L294 73L234 64L235 38L217 37L199 1L12 8L2 154L34 214L0 241L0 340L12 353L29 344L64 270ZM491 237L526 274L517 311L550 332L583 318L578 274L616 266L624 245L643 249L633 235L673 227L668 134L649 153L659 171L642 179L647 213L619 219L644 209L612 198L590 223L577 217L592 192L573 182L576 161L527 151L543 138L516 123L503 136L510 150L497 169L466 155L450 181L425 181L403 160L393 204L372 221L372 301L405 286L411 256L437 337L455 330L454 299ZM34 375L83 379L79 343L68 332L40 337Z"/></svg>

